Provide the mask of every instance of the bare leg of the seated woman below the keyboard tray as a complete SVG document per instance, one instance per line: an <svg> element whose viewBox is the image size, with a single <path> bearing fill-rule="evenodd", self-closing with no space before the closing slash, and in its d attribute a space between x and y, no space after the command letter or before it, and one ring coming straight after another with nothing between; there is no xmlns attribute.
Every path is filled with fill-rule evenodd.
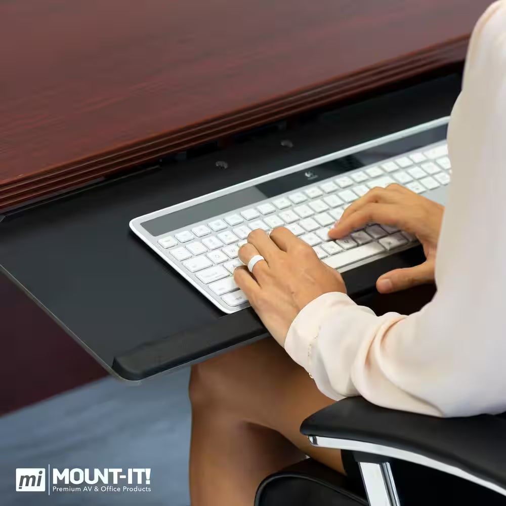
<svg viewBox="0 0 506 506"><path fill-rule="evenodd" d="M194 366L190 399L192 506L250 506L263 478L305 454L343 472L340 451L299 432L334 401L272 339Z"/></svg>

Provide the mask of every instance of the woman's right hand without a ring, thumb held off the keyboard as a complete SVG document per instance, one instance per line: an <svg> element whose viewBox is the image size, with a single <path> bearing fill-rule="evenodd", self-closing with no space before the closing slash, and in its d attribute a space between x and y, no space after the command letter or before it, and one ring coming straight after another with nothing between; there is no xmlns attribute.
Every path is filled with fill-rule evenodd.
<svg viewBox="0 0 506 506"><path fill-rule="evenodd" d="M376 288L381 293L403 290L434 281L434 267L444 206L398 184L373 188L346 208L341 219L329 231L340 239L368 223L391 225L416 236L424 247L426 261L380 276Z"/></svg>

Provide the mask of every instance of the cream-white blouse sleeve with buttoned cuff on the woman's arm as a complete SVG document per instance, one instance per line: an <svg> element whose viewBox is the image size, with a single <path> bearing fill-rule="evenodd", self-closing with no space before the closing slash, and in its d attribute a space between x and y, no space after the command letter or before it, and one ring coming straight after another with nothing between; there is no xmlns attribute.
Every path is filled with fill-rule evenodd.
<svg viewBox="0 0 506 506"><path fill-rule="evenodd" d="M376 317L326 293L290 327L286 351L331 398L438 416L506 410L505 0L473 32L448 146L434 300L407 317Z"/></svg>

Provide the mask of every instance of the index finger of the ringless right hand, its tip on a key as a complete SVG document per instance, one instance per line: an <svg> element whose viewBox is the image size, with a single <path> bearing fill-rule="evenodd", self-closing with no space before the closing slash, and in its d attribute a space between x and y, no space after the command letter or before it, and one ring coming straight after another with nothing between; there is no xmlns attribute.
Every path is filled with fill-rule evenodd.
<svg viewBox="0 0 506 506"><path fill-rule="evenodd" d="M339 239L368 223L382 223L404 229L405 218L404 214L399 212L398 205L369 203L349 217L341 218L334 228L329 230L328 236Z"/></svg>

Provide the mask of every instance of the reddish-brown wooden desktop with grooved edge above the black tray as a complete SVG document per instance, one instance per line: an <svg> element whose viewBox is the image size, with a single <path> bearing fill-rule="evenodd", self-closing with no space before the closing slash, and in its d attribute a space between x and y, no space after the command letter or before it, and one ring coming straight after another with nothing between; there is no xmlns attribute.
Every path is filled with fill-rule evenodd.
<svg viewBox="0 0 506 506"><path fill-rule="evenodd" d="M462 60L489 0L0 3L0 211Z"/></svg>

